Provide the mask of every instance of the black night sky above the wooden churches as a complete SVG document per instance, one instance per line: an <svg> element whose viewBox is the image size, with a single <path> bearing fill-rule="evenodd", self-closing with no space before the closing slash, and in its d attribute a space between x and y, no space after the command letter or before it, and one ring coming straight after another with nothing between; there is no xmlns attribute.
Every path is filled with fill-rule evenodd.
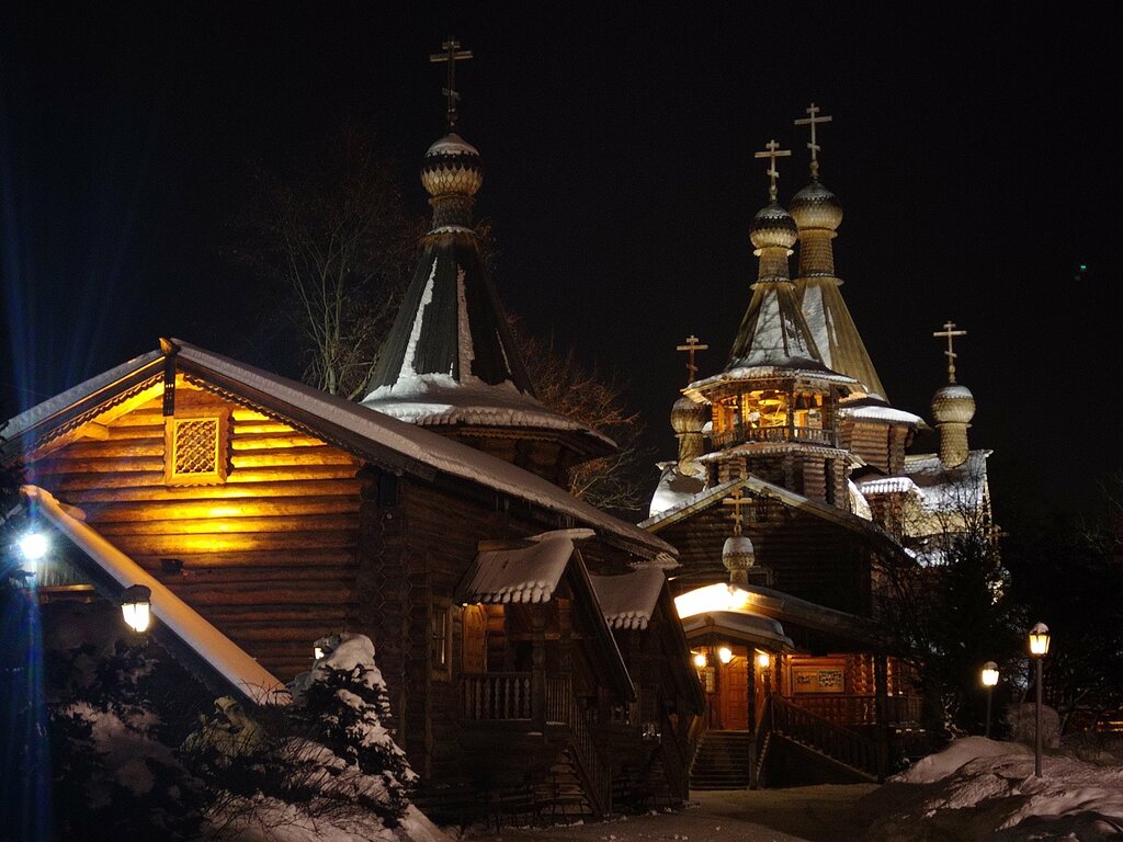
<svg viewBox="0 0 1123 842"><path fill-rule="evenodd" d="M663 458L674 346L697 333L715 372L749 301L766 200L752 153L794 149L786 202L806 181L792 120L815 101L834 118L822 179L846 209L842 293L893 402L930 414L946 376L931 332L952 319L999 516L1086 506L1123 464L1106 8L45 6L0 12L3 414L161 335L290 365L275 293L227 256L250 164L357 117L424 211L417 163L444 130L427 56L453 31L476 56L458 71L460 129L487 167L500 295L627 377Z"/></svg>

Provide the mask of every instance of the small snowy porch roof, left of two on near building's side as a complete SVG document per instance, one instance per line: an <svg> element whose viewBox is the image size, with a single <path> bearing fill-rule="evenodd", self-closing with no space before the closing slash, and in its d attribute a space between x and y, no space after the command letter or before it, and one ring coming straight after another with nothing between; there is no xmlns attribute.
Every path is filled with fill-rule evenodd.
<svg viewBox="0 0 1123 842"><path fill-rule="evenodd" d="M573 538L547 532L530 547L485 550L457 591L460 602L549 602L573 556Z"/></svg>

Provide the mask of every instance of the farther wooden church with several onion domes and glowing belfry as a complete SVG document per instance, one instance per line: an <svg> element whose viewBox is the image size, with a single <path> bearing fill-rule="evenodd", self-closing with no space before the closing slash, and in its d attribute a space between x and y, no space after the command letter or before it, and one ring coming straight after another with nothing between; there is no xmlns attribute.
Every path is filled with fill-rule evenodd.
<svg viewBox="0 0 1123 842"><path fill-rule="evenodd" d="M950 534L989 529L988 451L968 448L975 403L953 366L932 403L940 452L906 455L926 424L889 403L840 294L842 209L815 135L830 118L807 113L811 182L789 209L776 164L791 153L773 141L757 155L769 196L750 226L751 300L716 374L697 376L695 337L681 346L678 459L640 524L679 552L672 586L707 697L701 788L884 777L922 716L876 622L880 571L935 564ZM953 328L937 333L949 360Z"/></svg>

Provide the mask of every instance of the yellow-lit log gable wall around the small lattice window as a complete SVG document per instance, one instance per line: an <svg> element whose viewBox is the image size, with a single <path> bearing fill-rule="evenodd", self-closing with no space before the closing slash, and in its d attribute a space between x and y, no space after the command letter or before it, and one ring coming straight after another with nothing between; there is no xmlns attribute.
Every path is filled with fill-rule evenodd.
<svg viewBox="0 0 1123 842"><path fill-rule="evenodd" d="M355 613L360 482L349 454L248 406L176 391L177 418L228 418L226 478L170 485L158 397L30 464L88 522L282 680Z"/></svg>

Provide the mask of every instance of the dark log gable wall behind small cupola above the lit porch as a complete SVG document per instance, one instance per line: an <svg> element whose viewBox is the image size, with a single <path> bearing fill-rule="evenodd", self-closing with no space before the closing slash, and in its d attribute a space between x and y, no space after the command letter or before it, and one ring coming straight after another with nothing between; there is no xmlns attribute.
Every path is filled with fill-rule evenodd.
<svg viewBox="0 0 1123 842"><path fill-rule="evenodd" d="M678 549L675 593L729 578L721 561L732 534L728 506L711 506L659 530ZM869 612L870 553L857 536L775 501L757 501L745 533L778 591L857 614Z"/></svg>

